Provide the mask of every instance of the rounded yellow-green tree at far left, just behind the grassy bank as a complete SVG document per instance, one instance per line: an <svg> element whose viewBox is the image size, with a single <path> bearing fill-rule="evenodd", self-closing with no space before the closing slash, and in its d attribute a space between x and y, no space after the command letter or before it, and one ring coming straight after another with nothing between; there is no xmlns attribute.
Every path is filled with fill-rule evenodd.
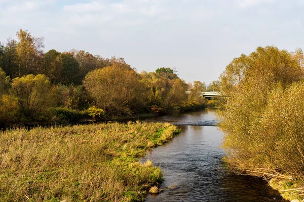
<svg viewBox="0 0 304 202"><path fill-rule="evenodd" d="M30 74L14 78L12 82L13 95L18 99L21 114L30 120L43 119L43 115L54 105L49 78L42 74Z"/></svg>

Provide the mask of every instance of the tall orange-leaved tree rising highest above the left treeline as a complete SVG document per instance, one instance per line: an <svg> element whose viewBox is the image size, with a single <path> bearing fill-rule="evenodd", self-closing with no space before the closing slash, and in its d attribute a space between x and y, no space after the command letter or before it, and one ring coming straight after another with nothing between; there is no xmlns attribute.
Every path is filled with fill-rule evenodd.
<svg viewBox="0 0 304 202"><path fill-rule="evenodd" d="M43 40L33 37L27 30L20 29L16 33L18 37L17 54L19 56L19 70L22 75L41 73Z"/></svg>

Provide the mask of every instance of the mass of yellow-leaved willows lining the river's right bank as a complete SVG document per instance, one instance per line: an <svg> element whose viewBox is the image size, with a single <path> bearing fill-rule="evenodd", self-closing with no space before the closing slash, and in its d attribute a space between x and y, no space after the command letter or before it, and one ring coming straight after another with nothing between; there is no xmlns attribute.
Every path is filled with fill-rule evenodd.
<svg viewBox="0 0 304 202"><path fill-rule="evenodd" d="M258 47L222 73L220 128L227 161L237 169L304 180L303 59L300 49Z"/></svg>

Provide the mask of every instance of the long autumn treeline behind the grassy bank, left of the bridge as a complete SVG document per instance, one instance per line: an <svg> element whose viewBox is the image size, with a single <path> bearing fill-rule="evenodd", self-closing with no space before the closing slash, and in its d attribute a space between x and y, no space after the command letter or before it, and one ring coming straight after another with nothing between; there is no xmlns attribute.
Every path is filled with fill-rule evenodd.
<svg viewBox="0 0 304 202"><path fill-rule="evenodd" d="M45 53L43 38L22 29L16 35L0 43L1 125L167 114L207 104L199 93L208 90L204 82L185 83L170 68L137 73L123 58Z"/></svg>

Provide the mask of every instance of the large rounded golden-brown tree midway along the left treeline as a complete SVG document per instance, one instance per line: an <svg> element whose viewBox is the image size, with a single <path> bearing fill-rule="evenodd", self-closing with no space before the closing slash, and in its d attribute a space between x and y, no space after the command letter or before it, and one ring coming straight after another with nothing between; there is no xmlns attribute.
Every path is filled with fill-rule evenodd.
<svg viewBox="0 0 304 202"><path fill-rule="evenodd" d="M96 106L109 115L131 115L142 107L142 85L133 69L116 63L89 72L84 86L93 97Z"/></svg>

